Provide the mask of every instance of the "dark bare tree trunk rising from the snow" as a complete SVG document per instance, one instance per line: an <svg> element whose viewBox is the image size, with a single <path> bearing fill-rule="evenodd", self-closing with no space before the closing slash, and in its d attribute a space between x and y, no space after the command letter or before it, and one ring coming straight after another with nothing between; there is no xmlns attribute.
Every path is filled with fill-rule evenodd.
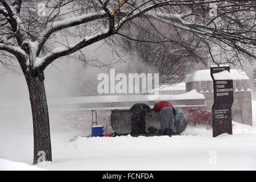
<svg viewBox="0 0 256 182"><path fill-rule="evenodd" d="M27 86L29 87L30 104L33 115L34 131L34 161L38 160L52 161L51 159L51 139L49 113L45 92L45 76L42 73L39 76L25 75Z"/></svg>

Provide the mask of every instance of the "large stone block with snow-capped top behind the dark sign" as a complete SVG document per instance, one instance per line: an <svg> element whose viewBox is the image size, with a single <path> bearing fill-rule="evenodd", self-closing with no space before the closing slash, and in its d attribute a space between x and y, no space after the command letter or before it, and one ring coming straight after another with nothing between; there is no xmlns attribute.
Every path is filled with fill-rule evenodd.
<svg viewBox="0 0 256 182"><path fill-rule="evenodd" d="M245 72L239 69L230 69L230 75L233 78L234 90L233 120L252 126L250 79ZM186 92L194 89L205 96L206 107L211 109L213 106L213 80L210 69L199 70L187 75Z"/></svg>

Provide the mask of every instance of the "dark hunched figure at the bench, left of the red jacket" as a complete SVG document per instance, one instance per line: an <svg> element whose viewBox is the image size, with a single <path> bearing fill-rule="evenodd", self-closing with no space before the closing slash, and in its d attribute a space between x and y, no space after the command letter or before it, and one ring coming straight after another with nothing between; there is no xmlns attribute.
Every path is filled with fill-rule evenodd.
<svg viewBox="0 0 256 182"><path fill-rule="evenodd" d="M150 106L144 103L134 104L131 108L131 134L146 133L146 111Z"/></svg>

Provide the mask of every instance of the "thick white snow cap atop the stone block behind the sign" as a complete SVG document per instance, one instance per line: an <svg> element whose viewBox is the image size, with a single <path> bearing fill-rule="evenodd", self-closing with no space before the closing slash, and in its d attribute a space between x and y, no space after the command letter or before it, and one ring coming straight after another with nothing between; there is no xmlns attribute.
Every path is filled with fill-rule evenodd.
<svg viewBox="0 0 256 182"><path fill-rule="evenodd" d="M240 69L230 69L230 75L233 80L249 80L249 77ZM196 71L187 75L186 82L193 81L213 81L210 74L210 69Z"/></svg>

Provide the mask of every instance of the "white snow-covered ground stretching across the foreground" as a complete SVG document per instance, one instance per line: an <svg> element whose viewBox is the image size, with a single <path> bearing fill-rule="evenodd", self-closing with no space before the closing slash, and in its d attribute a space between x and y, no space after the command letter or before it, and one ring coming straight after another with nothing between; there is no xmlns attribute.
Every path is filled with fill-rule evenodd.
<svg viewBox="0 0 256 182"><path fill-rule="evenodd" d="M254 126L256 101L253 101ZM181 136L69 139L51 133L53 162L30 166L33 135L0 129L0 170L250 170L256 169L256 128L233 122L233 135L188 127ZM28 165L29 164L29 165Z"/></svg>

